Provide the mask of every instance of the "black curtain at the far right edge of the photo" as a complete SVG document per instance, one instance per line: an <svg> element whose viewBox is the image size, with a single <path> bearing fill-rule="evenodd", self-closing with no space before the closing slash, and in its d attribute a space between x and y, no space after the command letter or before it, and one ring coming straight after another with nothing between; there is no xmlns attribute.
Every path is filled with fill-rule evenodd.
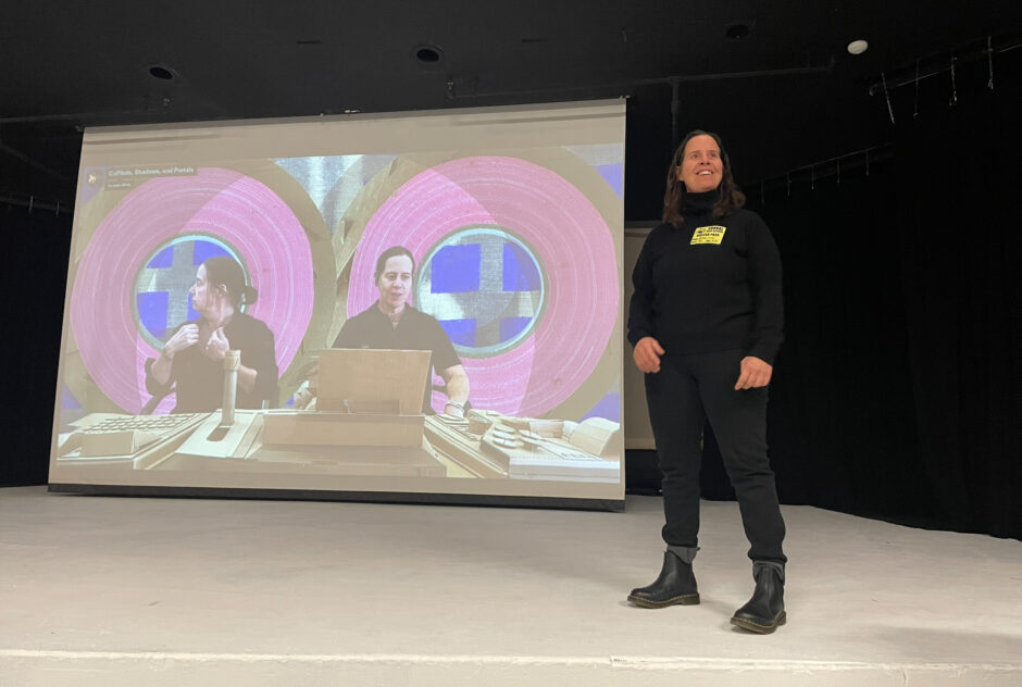
<svg viewBox="0 0 1022 687"><path fill-rule="evenodd" d="M949 526L1022 538L1020 88L897 132L917 428Z"/></svg>

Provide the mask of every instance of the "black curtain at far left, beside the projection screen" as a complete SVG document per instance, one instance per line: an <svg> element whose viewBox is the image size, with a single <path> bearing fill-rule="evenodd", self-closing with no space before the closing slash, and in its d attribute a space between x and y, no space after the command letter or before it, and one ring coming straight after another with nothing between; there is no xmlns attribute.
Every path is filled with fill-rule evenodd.
<svg viewBox="0 0 1022 687"><path fill-rule="evenodd" d="M71 216L0 205L5 380L0 487L46 484Z"/></svg>

